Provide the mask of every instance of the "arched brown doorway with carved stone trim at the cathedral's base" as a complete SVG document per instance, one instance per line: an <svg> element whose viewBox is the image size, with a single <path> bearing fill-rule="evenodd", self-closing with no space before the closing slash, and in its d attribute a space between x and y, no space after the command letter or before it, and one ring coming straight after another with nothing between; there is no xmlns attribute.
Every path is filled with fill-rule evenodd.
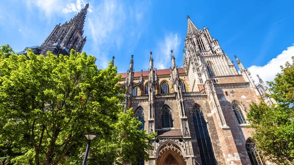
<svg viewBox="0 0 294 165"><path fill-rule="evenodd" d="M186 162L179 146L166 142L159 149L156 165L186 165Z"/></svg>

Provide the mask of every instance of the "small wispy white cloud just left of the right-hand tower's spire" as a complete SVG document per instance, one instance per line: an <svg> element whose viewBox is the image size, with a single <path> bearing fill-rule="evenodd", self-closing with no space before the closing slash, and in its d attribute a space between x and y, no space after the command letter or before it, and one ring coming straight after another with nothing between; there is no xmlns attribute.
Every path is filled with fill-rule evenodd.
<svg viewBox="0 0 294 165"><path fill-rule="evenodd" d="M157 69L167 69L172 66L171 62L171 49L173 50L173 55L175 58L177 57L180 39L178 34L169 33L165 36L164 40L160 41L158 44L158 48L153 53L153 57L155 58L155 68ZM179 61L179 60L177 60Z"/></svg>

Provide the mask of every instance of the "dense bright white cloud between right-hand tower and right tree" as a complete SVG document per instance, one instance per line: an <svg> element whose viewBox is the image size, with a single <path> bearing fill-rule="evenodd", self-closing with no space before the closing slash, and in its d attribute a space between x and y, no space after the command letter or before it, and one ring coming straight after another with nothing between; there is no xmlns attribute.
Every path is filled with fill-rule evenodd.
<svg viewBox="0 0 294 165"><path fill-rule="evenodd" d="M287 47L287 50L277 55L276 58L271 59L265 66L253 65L248 68L248 71L250 71L255 83L258 83L256 74L258 74L264 82L273 81L275 75L282 71L280 66L284 66L287 61L291 62L292 56L294 56L294 46Z"/></svg>

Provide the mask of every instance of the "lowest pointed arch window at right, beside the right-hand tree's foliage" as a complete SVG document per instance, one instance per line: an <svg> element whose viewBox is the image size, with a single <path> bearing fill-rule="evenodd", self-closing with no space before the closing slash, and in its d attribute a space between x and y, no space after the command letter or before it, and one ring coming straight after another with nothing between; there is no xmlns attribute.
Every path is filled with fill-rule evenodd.
<svg viewBox="0 0 294 165"><path fill-rule="evenodd" d="M266 161L261 156L261 152L256 149L256 144L251 138L247 139L245 146L252 165L266 165Z"/></svg>

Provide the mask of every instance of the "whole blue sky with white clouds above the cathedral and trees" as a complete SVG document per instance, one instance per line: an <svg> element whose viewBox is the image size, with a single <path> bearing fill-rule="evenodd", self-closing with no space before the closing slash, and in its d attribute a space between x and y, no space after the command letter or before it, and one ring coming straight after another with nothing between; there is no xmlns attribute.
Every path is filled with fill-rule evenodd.
<svg viewBox="0 0 294 165"><path fill-rule="evenodd" d="M2 0L0 45L15 51L41 45L56 24L70 20L90 3L83 51L105 68L116 57L119 72L148 69L153 52L157 69L171 66L170 50L182 65L187 14L198 28L208 27L231 58L234 54L268 81L294 55L293 0Z"/></svg>

